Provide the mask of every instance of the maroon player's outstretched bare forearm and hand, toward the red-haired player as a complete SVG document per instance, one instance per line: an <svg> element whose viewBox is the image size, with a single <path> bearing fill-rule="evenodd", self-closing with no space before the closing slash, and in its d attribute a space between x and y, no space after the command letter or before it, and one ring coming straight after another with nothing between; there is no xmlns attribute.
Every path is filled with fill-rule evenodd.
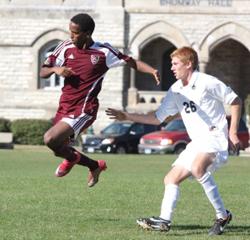
<svg viewBox="0 0 250 240"><path fill-rule="evenodd" d="M127 61L127 65L135 69L136 71L151 74L154 77L156 84L160 84L161 77L159 71L151 67L147 63L140 60L135 60L133 58L129 58L129 60Z"/></svg>

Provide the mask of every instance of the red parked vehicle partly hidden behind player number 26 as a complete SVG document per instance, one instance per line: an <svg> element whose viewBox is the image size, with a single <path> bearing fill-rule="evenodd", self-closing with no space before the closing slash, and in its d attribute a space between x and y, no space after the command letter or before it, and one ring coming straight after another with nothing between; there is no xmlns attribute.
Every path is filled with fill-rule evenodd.
<svg viewBox="0 0 250 240"><path fill-rule="evenodd" d="M231 117L227 116L230 124ZM245 122L240 119L238 137L240 139L240 150L249 147L249 131ZM138 146L139 153L153 154L153 153L181 153L186 145L190 142L185 125L181 118L172 120L161 131L152 132L144 135L140 139ZM238 155L239 152L234 153L229 149L229 154Z"/></svg>

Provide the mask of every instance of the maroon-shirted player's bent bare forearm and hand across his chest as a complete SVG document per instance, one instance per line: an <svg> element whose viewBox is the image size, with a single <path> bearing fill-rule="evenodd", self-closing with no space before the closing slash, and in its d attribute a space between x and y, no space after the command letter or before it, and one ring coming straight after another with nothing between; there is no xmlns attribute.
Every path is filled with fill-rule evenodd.
<svg viewBox="0 0 250 240"><path fill-rule="evenodd" d="M58 67L58 66L54 66L54 67L42 67L40 70L40 77L42 78L47 78L50 77L53 73L62 76L62 77L70 77L72 75L75 74L75 72L68 67Z"/></svg>

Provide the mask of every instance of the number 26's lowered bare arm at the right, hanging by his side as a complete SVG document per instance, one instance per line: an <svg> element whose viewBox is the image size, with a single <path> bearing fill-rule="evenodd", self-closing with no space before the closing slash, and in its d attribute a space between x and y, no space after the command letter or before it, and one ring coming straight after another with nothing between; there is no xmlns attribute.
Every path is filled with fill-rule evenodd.
<svg viewBox="0 0 250 240"><path fill-rule="evenodd" d="M234 151L238 151L240 147L240 140L237 136L239 121L241 116L242 102L239 97L236 97L231 105L231 124L229 128L229 144Z"/></svg>

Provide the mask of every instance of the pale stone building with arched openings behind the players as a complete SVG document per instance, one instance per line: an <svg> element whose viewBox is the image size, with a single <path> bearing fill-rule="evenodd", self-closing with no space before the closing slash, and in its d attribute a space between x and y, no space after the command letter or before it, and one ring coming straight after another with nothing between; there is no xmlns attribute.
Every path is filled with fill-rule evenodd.
<svg viewBox="0 0 250 240"><path fill-rule="evenodd" d="M243 100L250 94L250 1L0 0L0 117L53 117L63 82L56 76L40 79L39 68L69 37L69 19L79 12L96 21L94 40L110 42L162 75L156 86L150 76L126 67L110 70L96 131L110 122L107 107L155 109L175 81L169 54L183 45L197 50L202 72L217 76Z"/></svg>

